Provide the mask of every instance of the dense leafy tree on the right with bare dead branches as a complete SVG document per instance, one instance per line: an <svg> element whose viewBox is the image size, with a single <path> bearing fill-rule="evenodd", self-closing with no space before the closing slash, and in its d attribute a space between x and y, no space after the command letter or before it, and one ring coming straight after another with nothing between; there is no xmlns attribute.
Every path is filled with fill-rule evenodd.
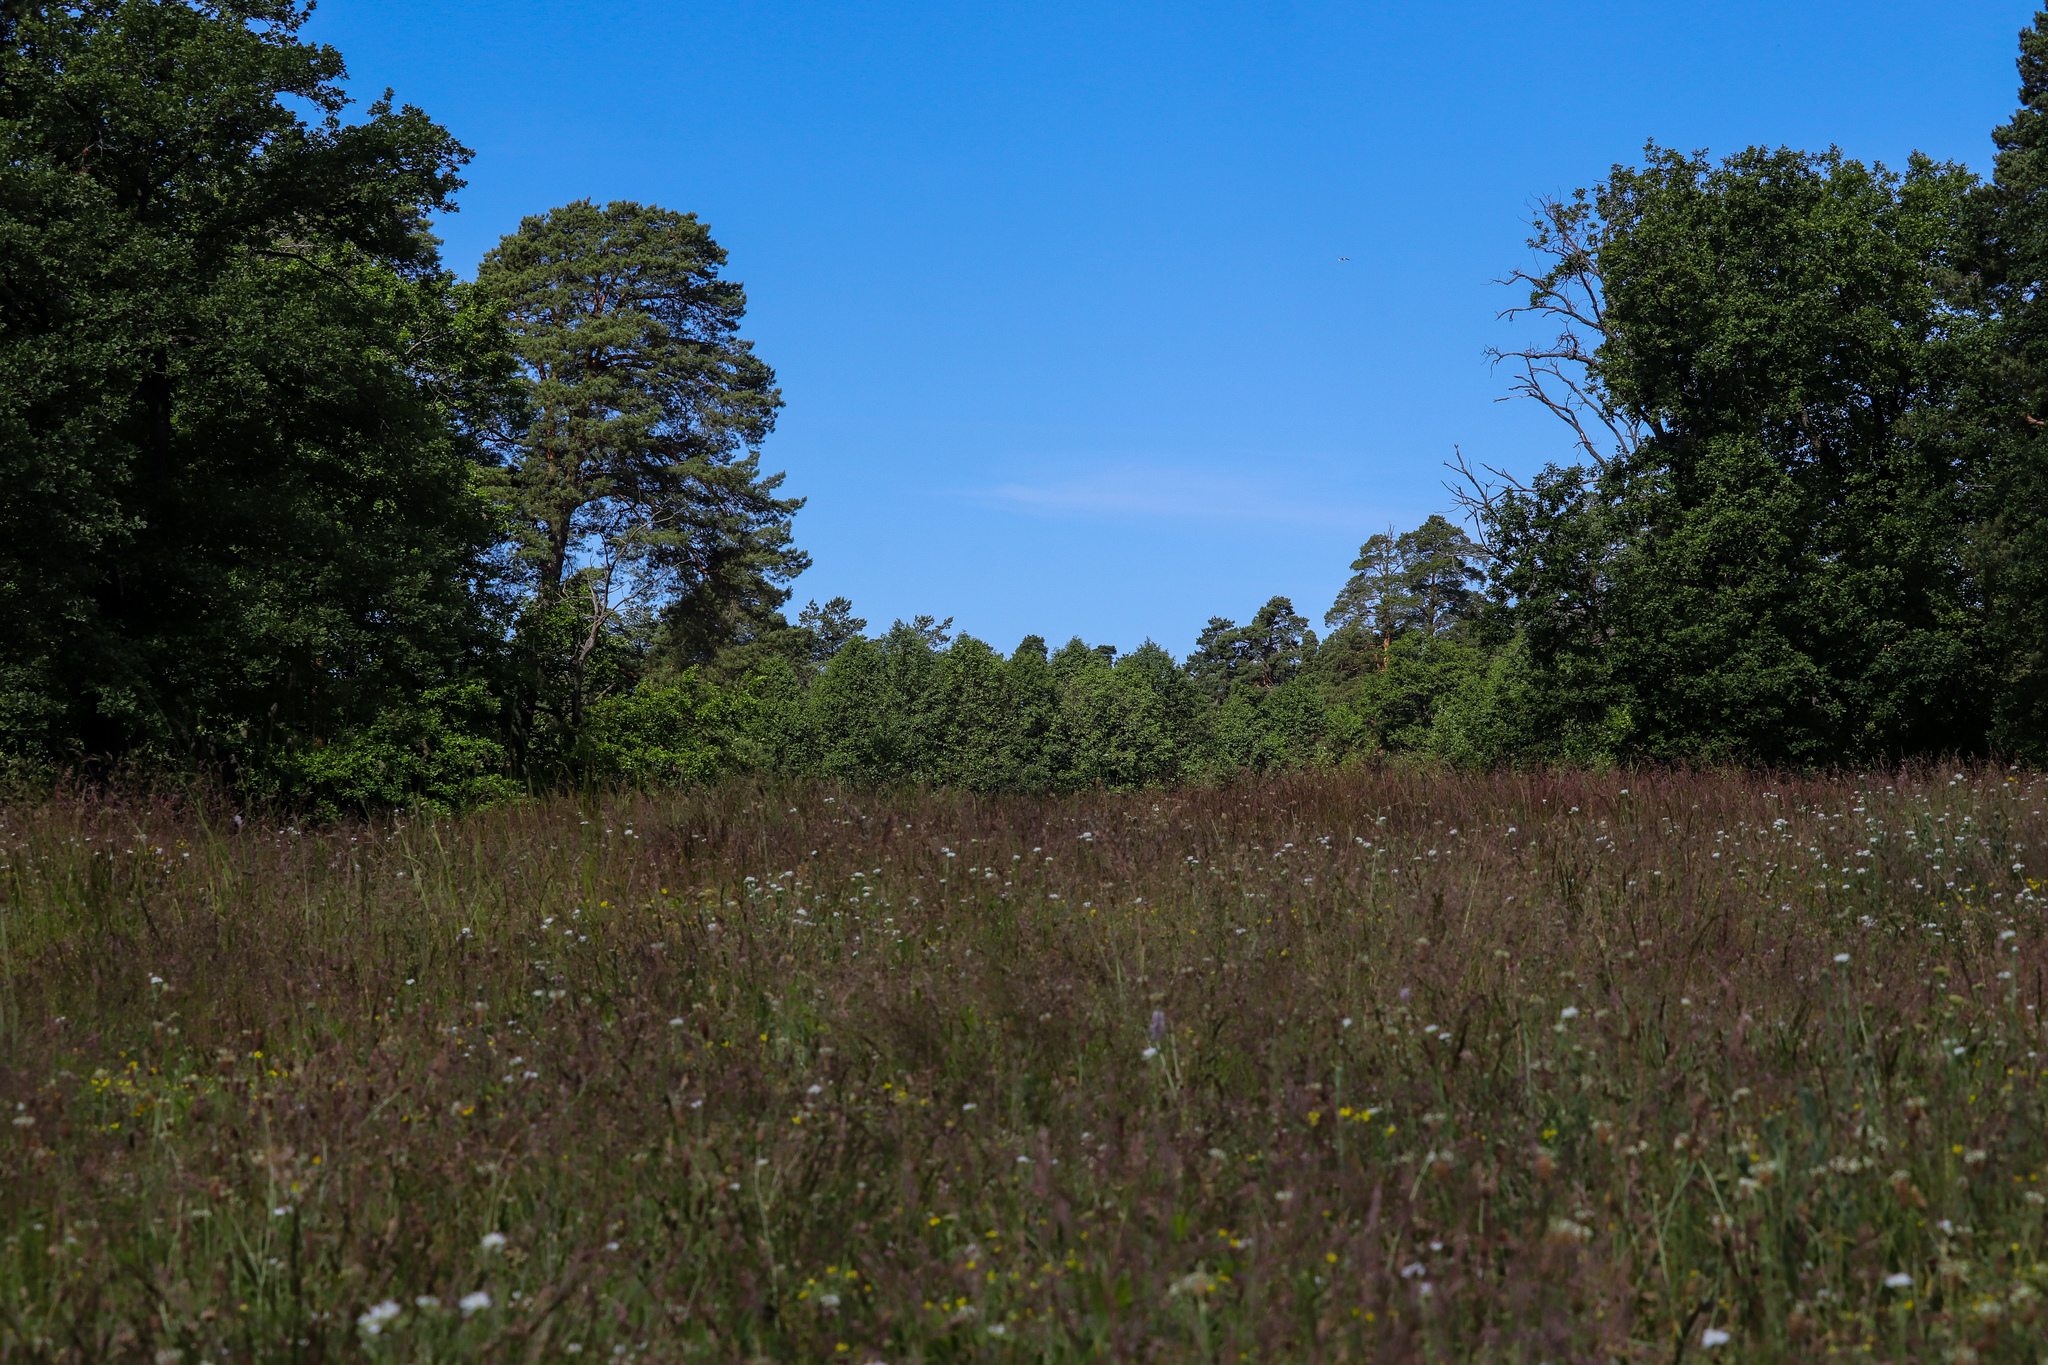
<svg viewBox="0 0 2048 1365"><path fill-rule="evenodd" d="M1550 733L1651 757L1972 749L1985 690L1946 438L1970 176L1651 147L1550 205L1522 391L1589 463L1487 491Z"/></svg>

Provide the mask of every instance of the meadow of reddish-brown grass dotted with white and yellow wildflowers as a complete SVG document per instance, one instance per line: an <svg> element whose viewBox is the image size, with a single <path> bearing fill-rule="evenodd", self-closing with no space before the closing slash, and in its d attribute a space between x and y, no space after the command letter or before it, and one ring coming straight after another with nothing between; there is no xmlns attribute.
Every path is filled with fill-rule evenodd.
<svg viewBox="0 0 2048 1365"><path fill-rule="evenodd" d="M2025 774L0 825L0 1361L2038 1361Z"/></svg>

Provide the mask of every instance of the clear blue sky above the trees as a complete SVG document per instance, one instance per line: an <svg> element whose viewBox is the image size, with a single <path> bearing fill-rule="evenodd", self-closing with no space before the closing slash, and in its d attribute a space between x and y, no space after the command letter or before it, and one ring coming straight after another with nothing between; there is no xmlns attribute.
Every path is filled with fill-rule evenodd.
<svg viewBox="0 0 2048 1365"><path fill-rule="evenodd" d="M2032 2L324 0L477 151L449 264L694 211L788 401L807 598L1184 655L1559 432L1483 352L1540 194L1645 139L1989 168ZM1350 260L1339 260L1348 256Z"/></svg>

